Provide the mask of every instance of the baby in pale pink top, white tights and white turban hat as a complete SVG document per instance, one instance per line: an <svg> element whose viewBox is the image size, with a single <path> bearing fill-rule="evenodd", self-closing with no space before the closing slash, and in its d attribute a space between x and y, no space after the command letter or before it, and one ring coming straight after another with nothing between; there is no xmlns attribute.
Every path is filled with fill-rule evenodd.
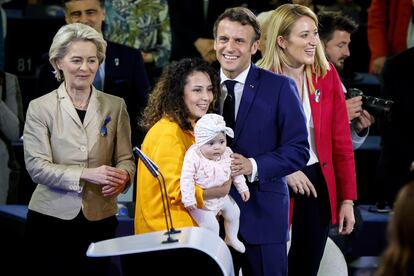
<svg viewBox="0 0 414 276"><path fill-rule="evenodd" d="M216 215L221 211L226 231L225 242L243 253L244 244L237 238L239 231L240 209L229 196L204 200L204 208L198 209L195 199L195 185L203 189L223 185L231 175L232 150L227 147L226 134L233 138L233 130L226 127L222 116L206 114L195 127L196 143L186 152L181 172L182 202L200 227L208 228L219 234ZM232 177L233 183L243 201L250 197L249 188L243 175Z"/></svg>

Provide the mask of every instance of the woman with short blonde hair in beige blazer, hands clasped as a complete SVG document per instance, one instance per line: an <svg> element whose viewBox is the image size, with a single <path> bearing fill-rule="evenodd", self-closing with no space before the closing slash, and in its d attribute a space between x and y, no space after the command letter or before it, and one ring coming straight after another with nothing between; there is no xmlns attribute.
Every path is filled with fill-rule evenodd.
<svg viewBox="0 0 414 276"><path fill-rule="evenodd" d="M26 222L28 261L42 275L105 275L91 242L115 237L117 196L135 173L125 102L96 90L106 42L93 28L60 28L49 50L58 89L30 102L23 134L37 183ZM39 254L39 251L42 254Z"/></svg>

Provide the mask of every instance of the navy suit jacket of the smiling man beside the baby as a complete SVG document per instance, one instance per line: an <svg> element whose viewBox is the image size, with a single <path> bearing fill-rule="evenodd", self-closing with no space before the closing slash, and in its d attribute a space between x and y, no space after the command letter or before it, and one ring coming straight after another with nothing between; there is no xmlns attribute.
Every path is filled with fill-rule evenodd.
<svg viewBox="0 0 414 276"><path fill-rule="evenodd" d="M252 64L238 110L233 151L257 163L259 180L249 184L250 199L241 200L239 233L250 244L288 240L289 192L285 176L309 159L305 114L296 84Z"/></svg>

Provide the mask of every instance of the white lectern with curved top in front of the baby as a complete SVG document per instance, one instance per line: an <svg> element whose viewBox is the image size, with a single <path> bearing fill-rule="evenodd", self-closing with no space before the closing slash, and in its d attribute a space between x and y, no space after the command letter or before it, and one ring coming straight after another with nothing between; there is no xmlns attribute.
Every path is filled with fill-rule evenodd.
<svg viewBox="0 0 414 276"><path fill-rule="evenodd" d="M179 230L174 243L163 243L165 231L151 232L92 243L86 255L120 256L123 276L234 276L230 250L216 233L200 227Z"/></svg>

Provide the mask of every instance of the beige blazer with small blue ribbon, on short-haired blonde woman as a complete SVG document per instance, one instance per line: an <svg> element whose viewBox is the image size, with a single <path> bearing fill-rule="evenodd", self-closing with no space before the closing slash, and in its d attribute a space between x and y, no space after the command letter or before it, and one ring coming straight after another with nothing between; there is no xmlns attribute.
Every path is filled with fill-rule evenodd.
<svg viewBox="0 0 414 276"><path fill-rule="evenodd" d="M101 135L105 117L107 135ZM83 168L109 165L135 173L131 128L123 99L93 88L84 122L64 83L30 102L23 132L26 169L37 183L29 209L73 219L82 208L96 221L116 214L117 198L104 198L101 186L81 181Z"/></svg>

